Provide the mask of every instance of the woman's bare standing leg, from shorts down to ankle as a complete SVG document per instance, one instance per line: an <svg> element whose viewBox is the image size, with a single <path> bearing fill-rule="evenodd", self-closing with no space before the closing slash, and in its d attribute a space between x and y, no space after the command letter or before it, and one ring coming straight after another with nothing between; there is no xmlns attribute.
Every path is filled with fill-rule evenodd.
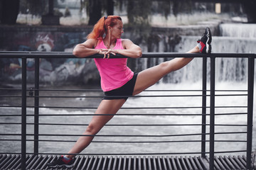
<svg viewBox="0 0 256 170"><path fill-rule="evenodd" d="M95 115L92 117L87 129L82 135L92 135L92 136L81 136L78 141L75 143L72 149L68 152L68 155L65 155L68 158L75 157L75 154L82 152L90 142L92 142L94 136L99 132L102 127L113 118L114 114L119 111L119 108L125 103L124 99L115 99L115 100L102 100L100 106L97 108ZM100 114L100 115L98 115ZM104 115L106 114L106 115ZM110 115L111 114L111 115Z"/></svg>

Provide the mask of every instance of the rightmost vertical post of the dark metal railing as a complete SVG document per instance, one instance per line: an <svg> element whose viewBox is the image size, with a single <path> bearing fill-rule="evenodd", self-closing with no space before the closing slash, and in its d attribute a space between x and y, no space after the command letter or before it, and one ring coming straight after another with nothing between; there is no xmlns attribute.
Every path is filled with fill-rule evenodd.
<svg viewBox="0 0 256 170"><path fill-rule="evenodd" d="M246 169L252 169L252 119L253 119L253 87L254 87L255 59L248 58L248 94L247 94L247 157Z"/></svg>

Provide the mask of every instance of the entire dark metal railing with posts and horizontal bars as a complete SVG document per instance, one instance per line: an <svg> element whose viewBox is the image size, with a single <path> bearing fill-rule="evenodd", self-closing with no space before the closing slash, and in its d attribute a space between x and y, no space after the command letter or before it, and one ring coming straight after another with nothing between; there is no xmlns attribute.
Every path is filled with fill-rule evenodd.
<svg viewBox="0 0 256 170"><path fill-rule="evenodd" d="M93 55L89 58L97 58L102 57L101 55ZM112 57L124 57L122 55L112 56ZM98 137L176 137L176 136L195 136L196 140L147 140L147 141L95 141L95 142L112 142L112 143L181 143L181 142L201 142L201 152L180 152L180 153L118 153L117 155L134 155L134 154L201 154L201 157L206 157L206 154L210 157L210 169L213 169L214 167L214 157L215 154L223 154L227 152L246 152L246 158L247 158L247 169L251 169L251 152L252 152L252 119L253 119L253 88L254 88L254 70L255 70L255 54L211 54L211 55L203 55L203 54L180 54L180 53L173 53L173 52L163 52L163 53L153 53L148 52L144 53L142 55L142 58L153 58L153 57L203 57L203 77L202 77L202 89L199 90L188 90L186 92L196 91L201 94L191 95L191 94L185 94L185 95L141 95L141 96L130 96L132 98L141 98L141 97L150 97L150 98L156 98L156 97L200 97L201 98L201 106L183 106L183 107L134 107L134 108L122 108L123 110L140 110L140 112L148 109L148 110L166 110L166 109L201 109L201 113L193 114L193 116L200 116L201 117L201 123L199 124L132 124L132 125L124 125L124 124L112 124L112 125L106 125L106 126L113 126L113 127L122 127L122 126L128 126L128 127L134 127L134 126L141 126L141 127L163 127L163 126L199 126L201 127L201 133L193 133L193 134L175 134L175 135L95 135ZM247 72L247 90L242 90L242 94L215 94L215 59L219 57L241 57L241 58L247 58L248 63L248 72ZM39 110L40 108L62 108L62 109L96 109L97 107L73 107L73 106L41 106L40 105L40 98L80 98L81 96L43 96L41 93L43 91L58 91L61 94L61 91L67 91L64 89L41 89L39 84L39 60L40 58L75 58L70 52L0 52L0 59L3 58L21 58L22 60L22 86L21 89L15 89L18 91L21 91L21 96L3 96L1 95L0 98L4 97L20 97L21 98L21 106L2 106L0 103L0 108L4 107L17 107L21 108L21 115L0 115L1 117L11 117L11 116L19 116L21 117L21 123L4 123L0 122L0 125L21 125L21 134L0 134L0 136L21 136L21 169L26 168L26 155L27 154L61 154L61 153L40 153L38 150L39 142L75 142L73 140L41 140L39 137L43 136L82 136L82 135L63 135L63 134L41 134L39 133L39 127L43 125L87 125L87 124L75 124L75 123L40 123L39 118L42 116L76 116L74 114L68 115L68 114L40 114ZM35 59L35 84L33 87L27 86L26 81L26 63L28 58L34 58ZM207 59L210 59L210 89L207 90ZM139 59L138 59L139 60ZM14 90L14 89L0 89L0 91L6 91L6 90ZM97 91L99 92L99 89L69 89L68 91L82 91L82 92L91 92L91 91ZM156 91L159 93L161 90L151 90ZM164 91L164 90L162 90ZM165 90L165 91L172 91L172 90ZM181 90L184 92L184 90ZM30 95L27 95L28 93L31 93ZM223 92L223 91L220 91ZM225 92L225 91L224 91ZM229 91L230 92L230 91ZM235 91L238 92L238 91ZM210 94L209 94L210 93ZM247 96L247 106L215 106L215 97L216 96ZM34 104L33 106L27 105L27 99L33 98ZM101 98L100 95L97 96L85 96L85 98ZM210 104L207 105L207 98L210 98ZM27 108L34 108L34 113L28 115L27 114ZM245 108L247 109L246 113L215 113L215 108ZM207 109L209 109L210 113L207 113ZM93 114L78 114L79 116L92 116ZM169 116L189 116L191 113L120 113L118 114L120 116L122 115L143 115L143 116L152 116L152 115L169 115ZM215 118L216 116L220 115L247 115L247 125L218 125L215 124ZM34 123L27 123L27 118L33 117ZM207 118L209 117L209 118ZM207 123L207 120L209 120L209 123ZM34 132L33 134L27 133L27 126L33 125ZM247 127L246 132L215 132L216 126L238 126L238 127ZM209 127L209 132L207 132L207 127ZM227 135L227 134L246 134L246 140L215 140L215 135ZM27 137L33 136L33 140L28 140ZM197 136L201 136L201 140L197 140ZM207 140L208 138L208 140ZM0 141L16 141L16 140L9 140L9 139L0 139ZM33 153L27 153L26 145L28 141L33 142ZM232 150L232 151L215 151L215 142L246 142L247 149L245 150ZM209 145L208 151L206 151L207 146ZM4 154L4 153L0 153ZM17 154L17 153L7 153L7 154ZM93 154L95 155L95 154ZM96 154L97 155L97 154ZM109 155L109 154L106 154Z"/></svg>

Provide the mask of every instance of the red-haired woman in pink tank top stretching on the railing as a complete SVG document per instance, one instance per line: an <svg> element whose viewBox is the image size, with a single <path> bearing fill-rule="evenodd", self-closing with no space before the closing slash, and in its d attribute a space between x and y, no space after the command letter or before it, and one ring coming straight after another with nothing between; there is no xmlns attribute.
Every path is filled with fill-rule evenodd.
<svg viewBox="0 0 256 170"><path fill-rule="evenodd" d="M75 46L73 55L77 57L103 55L103 58L95 59L95 64L100 72L101 86L102 90L105 91L105 97L98 106L95 112L96 115L93 116L83 133L83 135L88 136L81 136L67 155L48 163L48 166L72 167L75 154L82 152L90 145L93 135L96 135L125 103L127 100L125 96L139 94L149 86L156 84L164 75L181 69L193 60L193 58L175 58L134 74L127 67L127 58L110 59L110 54L119 54L131 58L142 57L142 49L131 40L121 39L122 33L124 33L123 23L119 16L102 17L95 24L92 33L87 36L87 40ZM206 28L201 40L198 40L198 45L188 53L210 53L210 42L210 29Z"/></svg>

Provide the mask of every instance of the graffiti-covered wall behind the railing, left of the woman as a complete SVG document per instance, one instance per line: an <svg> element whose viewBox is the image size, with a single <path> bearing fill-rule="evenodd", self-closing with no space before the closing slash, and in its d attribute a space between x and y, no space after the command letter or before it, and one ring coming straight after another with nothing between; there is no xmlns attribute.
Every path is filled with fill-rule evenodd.
<svg viewBox="0 0 256 170"><path fill-rule="evenodd" d="M19 36L6 36L12 43L14 51L38 51L38 52L72 52L75 45L84 42L85 33L21 33ZM15 38L12 40L11 38ZM1 47L0 47L1 48ZM2 47L3 48L3 47ZM8 47L6 47L8 49ZM1 50L1 49L0 49ZM81 80L80 74L84 69L93 69L94 67L85 67L92 64L90 59L41 59L40 60L40 81L44 83L55 84L56 82L65 82L69 79ZM94 65L94 64L93 64ZM0 79L6 82L16 82L21 80L21 59L1 59ZM33 71L35 62L33 59L27 60L28 82L33 82ZM91 70L92 71L92 70ZM95 72L95 71L93 71ZM97 77L97 75L95 75ZM82 81L89 81L83 79Z"/></svg>

